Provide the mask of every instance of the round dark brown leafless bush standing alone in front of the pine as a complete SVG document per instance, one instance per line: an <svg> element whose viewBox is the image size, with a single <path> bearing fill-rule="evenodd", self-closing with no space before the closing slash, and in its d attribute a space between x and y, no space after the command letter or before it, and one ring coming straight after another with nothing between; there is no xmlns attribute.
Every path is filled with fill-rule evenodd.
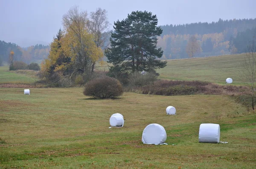
<svg viewBox="0 0 256 169"><path fill-rule="evenodd" d="M121 83L113 77L99 77L85 84L84 95L94 98L114 98L122 95Z"/></svg>

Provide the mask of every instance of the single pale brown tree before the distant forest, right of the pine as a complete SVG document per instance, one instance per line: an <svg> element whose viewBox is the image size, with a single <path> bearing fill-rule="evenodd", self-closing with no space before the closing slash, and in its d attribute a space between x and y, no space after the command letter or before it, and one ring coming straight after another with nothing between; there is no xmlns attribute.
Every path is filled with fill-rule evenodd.
<svg viewBox="0 0 256 169"><path fill-rule="evenodd" d="M189 57L194 57L195 54L202 52L201 45L198 43L198 40L194 35L189 38L189 42L186 46L186 52Z"/></svg>

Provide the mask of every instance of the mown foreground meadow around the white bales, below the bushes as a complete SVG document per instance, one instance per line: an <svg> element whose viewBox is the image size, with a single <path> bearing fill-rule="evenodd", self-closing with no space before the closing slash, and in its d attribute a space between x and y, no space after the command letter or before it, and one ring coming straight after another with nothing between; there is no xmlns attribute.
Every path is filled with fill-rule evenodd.
<svg viewBox="0 0 256 169"><path fill-rule="evenodd" d="M124 93L93 100L82 88L0 88L0 168L253 169L256 114L224 95ZM177 115L166 115L167 106ZM122 128L109 117L124 115ZM159 123L169 145L145 145L143 129ZM198 143L201 123L218 123L221 141ZM174 146L172 145L174 144Z"/></svg>

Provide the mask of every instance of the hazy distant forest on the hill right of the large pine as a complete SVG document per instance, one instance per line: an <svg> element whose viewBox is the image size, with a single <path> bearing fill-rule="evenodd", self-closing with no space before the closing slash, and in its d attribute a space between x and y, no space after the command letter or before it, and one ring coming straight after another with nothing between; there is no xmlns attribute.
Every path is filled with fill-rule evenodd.
<svg viewBox="0 0 256 169"><path fill-rule="evenodd" d="M255 27L256 19L166 25L161 26L163 33L158 37L157 45L164 51L163 59L243 53L244 42L252 38ZM244 39L243 43L241 39ZM197 47L191 49L194 45Z"/></svg>

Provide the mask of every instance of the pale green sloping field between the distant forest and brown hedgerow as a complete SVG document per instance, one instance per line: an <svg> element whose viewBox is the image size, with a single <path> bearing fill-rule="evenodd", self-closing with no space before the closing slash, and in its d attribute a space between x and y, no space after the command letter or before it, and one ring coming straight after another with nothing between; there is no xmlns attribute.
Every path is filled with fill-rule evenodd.
<svg viewBox="0 0 256 169"><path fill-rule="evenodd" d="M244 84L241 76L244 55L168 60L167 66L157 72L163 79L226 83L226 79L230 77L234 84Z"/></svg>

